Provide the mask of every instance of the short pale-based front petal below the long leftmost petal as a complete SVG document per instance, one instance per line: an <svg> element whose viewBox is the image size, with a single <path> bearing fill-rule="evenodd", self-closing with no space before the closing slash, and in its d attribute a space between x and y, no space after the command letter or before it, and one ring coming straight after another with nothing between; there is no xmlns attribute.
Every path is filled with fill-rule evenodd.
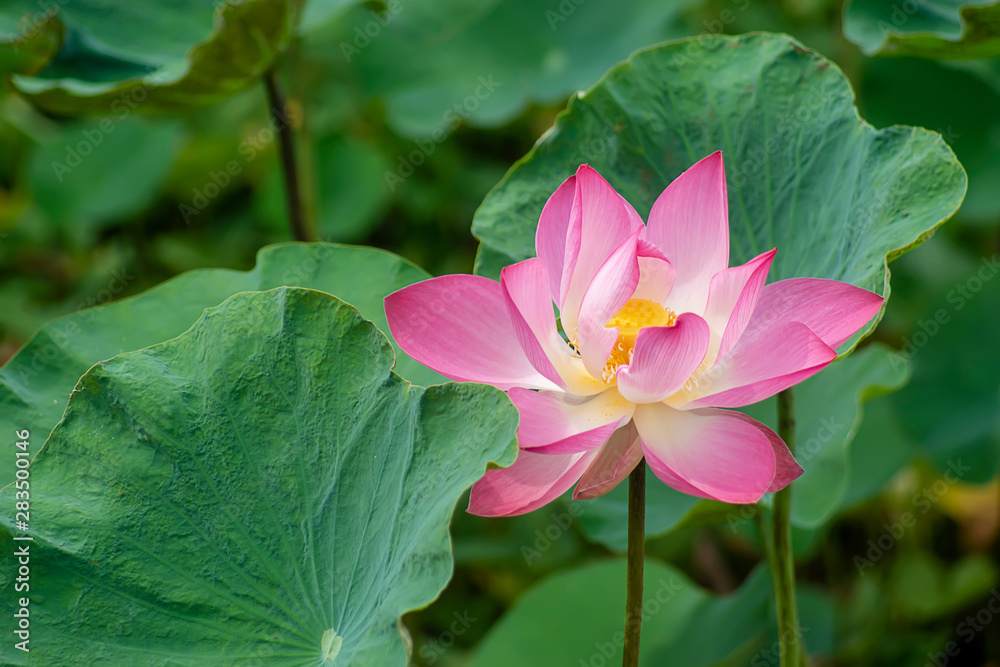
<svg viewBox="0 0 1000 667"><path fill-rule="evenodd" d="M635 409L615 389L607 389L586 399L557 391L517 388L511 389L507 395L521 418L517 427L517 443L523 449L546 447L608 425L613 427L613 431L623 421L628 421ZM611 431L608 431L593 447L604 444L610 434Z"/></svg>

